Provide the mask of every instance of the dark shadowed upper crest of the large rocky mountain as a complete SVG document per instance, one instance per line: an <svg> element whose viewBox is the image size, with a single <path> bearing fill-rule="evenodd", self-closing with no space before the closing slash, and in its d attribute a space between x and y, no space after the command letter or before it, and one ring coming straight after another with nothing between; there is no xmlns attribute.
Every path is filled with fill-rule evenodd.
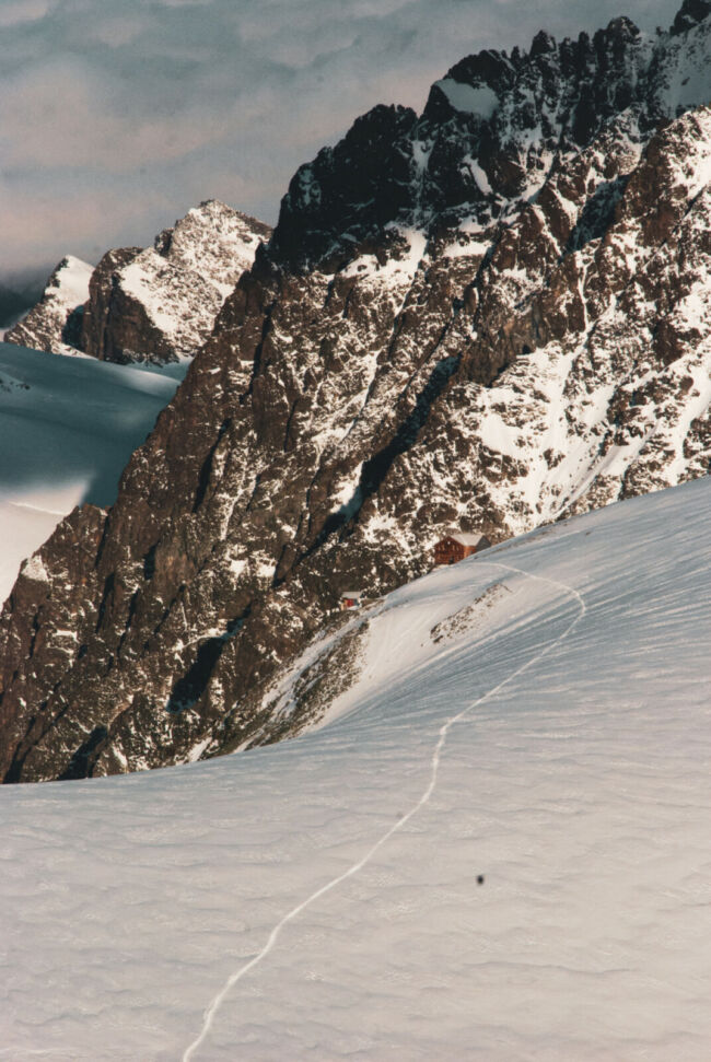
<svg viewBox="0 0 711 1062"><path fill-rule="evenodd" d="M299 170L272 254L337 268L353 243L380 245L388 223L436 236L506 222L611 120L627 114L642 143L707 103L707 45L706 25L653 40L617 19L592 39L556 45L541 32L528 52L469 56L435 82L419 118L375 107Z"/></svg>

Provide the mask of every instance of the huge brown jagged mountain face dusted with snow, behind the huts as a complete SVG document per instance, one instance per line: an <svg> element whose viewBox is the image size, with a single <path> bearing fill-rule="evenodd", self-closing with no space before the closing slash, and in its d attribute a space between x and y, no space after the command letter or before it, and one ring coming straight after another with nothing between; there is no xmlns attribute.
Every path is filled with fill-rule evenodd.
<svg viewBox="0 0 711 1062"><path fill-rule="evenodd" d="M276 716L279 668L345 588L709 471L710 21L464 60L300 171L116 505L20 575L8 780L296 733L340 665Z"/></svg>

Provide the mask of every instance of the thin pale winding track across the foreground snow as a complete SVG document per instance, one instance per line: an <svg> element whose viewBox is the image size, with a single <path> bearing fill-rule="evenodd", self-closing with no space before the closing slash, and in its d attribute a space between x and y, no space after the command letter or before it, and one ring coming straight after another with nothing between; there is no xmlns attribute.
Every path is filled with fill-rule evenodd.
<svg viewBox="0 0 711 1062"><path fill-rule="evenodd" d="M570 596L576 600L576 603L580 605L580 611L572 620L572 622L568 625L566 630L558 635L558 638L553 639L552 642L549 642L546 646L544 646L543 650L540 650L540 652L536 653L535 656L532 656L531 660L525 662L525 664L522 664L520 667L513 670L511 675L502 679L502 681L500 681L497 686L493 686L486 693L482 693L481 697L479 697L476 701L473 701L471 704L468 704L461 712L457 712L456 715L453 715L451 719L446 721L446 723L444 723L440 727L439 739L436 745L434 746L434 750L432 752L432 759L430 761L430 782L427 789L424 790L422 796L417 802L417 804L415 804L406 815L404 815L400 819L398 819L394 826L392 826L385 833L383 833L380 840L377 840L375 844L373 844L372 848L368 850L365 855L363 855L363 857L359 860L358 863L353 863L352 866L350 866L342 874L339 874L338 877L331 878L330 882L327 882L326 885L323 885L319 889L316 889L315 892L312 892L311 896L306 897L306 899L303 900L301 903L299 903L298 907L292 908L291 911L284 914L281 921L279 921L272 929L267 940L267 943L261 948L261 950L258 952L257 955L254 956L254 958L249 959L248 962L240 967L238 970L235 970L234 973L231 973L228 980L224 982L224 985L222 987L220 992L214 996L209 1007L205 1012L205 1018L203 1018L203 1024L202 1024L202 1029L200 1031L200 1035L197 1037L196 1040L193 1041L193 1043L184 1052L182 1062L190 1062L195 1052L205 1042L212 1027L212 1022L218 1011L222 1006L224 1000L226 999L230 990L234 988L237 981L241 981L242 978L249 972L249 970L252 970L255 966L261 962L264 958L267 957L267 955L271 952L275 944L277 943L279 935L282 929L284 927L284 925L287 925L289 922L292 922L299 914L301 914L302 911L304 911L307 907L311 907L311 905L314 903L316 900L320 899L322 896L325 896L327 892L330 892L338 885L340 885L341 882L345 882L347 878L352 877L354 874L358 874L360 871L362 871L362 868L368 863L370 863L370 861L378 851L378 849L381 849L387 841L389 841L389 839L393 837L394 833L397 833L399 830L401 830L403 827L407 822L409 822L409 820L415 815L417 815L417 813L422 807L424 807L426 804L429 803L430 797L432 796L432 793L434 792L434 789L436 786L442 749L444 748L446 736L450 730L456 723L459 723L463 719L465 719L469 714L469 712L473 712L476 708L479 708L480 704L483 704L485 701L488 701L489 698L493 697L496 693L502 690L504 686L508 686L509 682L513 681L514 678L517 678L524 672L528 670L529 667L533 667L534 664L537 664L538 661L543 660L544 656L546 656L557 645L560 645L560 643L568 638L568 635L578 626L578 623L580 623L581 619L587 611L587 606L585 605L585 602L582 595L572 586L569 586L567 583L561 583L556 579L548 579L545 575L534 575L532 572L526 572L521 568L514 568L512 564L501 564L498 561L478 560L477 567L480 567L481 564L485 564L485 563L490 564L494 568L503 568L505 571L514 572L517 575L525 575L526 579L535 579L538 582L548 583L551 586L559 587L560 590L564 591L567 594L570 594Z"/></svg>

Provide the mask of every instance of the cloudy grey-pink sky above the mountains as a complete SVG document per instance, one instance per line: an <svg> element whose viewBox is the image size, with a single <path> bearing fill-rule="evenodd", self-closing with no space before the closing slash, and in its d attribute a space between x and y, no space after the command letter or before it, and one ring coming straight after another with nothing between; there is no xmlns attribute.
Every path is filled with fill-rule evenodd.
<svg viewBox="0 0 711 1062"><path fill-rule="evenodd" d="M151 243L202 199L265 221L376 103L464 55L680 0L0 0L0 278Z"/></svg>

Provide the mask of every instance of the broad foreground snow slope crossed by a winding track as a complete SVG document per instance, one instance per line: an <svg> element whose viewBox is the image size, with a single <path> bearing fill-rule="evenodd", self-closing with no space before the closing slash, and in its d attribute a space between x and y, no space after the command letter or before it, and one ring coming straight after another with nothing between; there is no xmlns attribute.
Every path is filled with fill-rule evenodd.
<svg viewBox="0 0 711 1062"><path fill-rule="evenodd" d="M296 740L0 790L2 1057L706 1062L710 520L403 587Z"/></svg>

